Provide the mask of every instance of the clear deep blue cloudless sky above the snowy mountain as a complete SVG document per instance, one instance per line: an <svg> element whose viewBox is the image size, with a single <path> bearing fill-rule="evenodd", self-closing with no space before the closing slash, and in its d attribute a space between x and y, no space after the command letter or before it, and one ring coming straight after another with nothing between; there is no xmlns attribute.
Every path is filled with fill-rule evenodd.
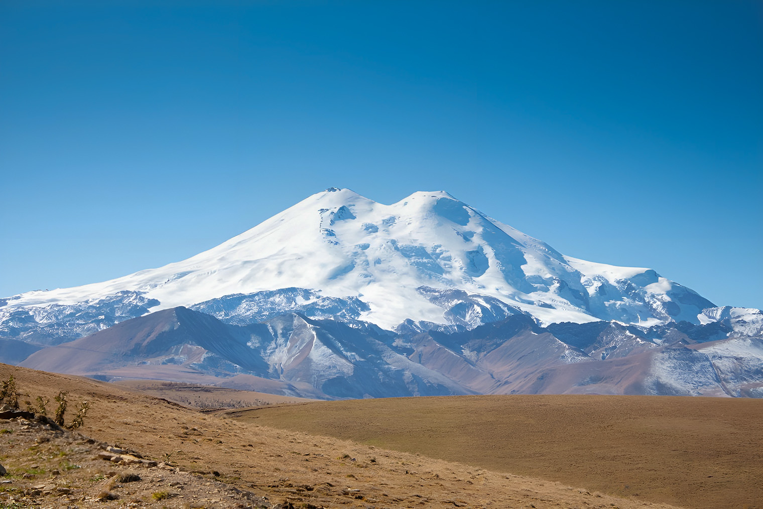
<svg viewBox="0 0 763 509"><path fill-rule="evenodd" d="M763 3L7 0L0 173L2 296L337 186L763 308Z"/></svg>

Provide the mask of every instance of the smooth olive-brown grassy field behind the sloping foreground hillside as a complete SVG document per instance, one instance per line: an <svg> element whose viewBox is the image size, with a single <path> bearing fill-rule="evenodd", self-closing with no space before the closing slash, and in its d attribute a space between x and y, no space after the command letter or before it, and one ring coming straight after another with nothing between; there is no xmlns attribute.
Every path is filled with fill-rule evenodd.
<svg viewBox="0 0 763 509"><path fill-rule="evenodd" d="M645 396L457 396L230 411L642 501L763 508L763 401Z"/></svg>

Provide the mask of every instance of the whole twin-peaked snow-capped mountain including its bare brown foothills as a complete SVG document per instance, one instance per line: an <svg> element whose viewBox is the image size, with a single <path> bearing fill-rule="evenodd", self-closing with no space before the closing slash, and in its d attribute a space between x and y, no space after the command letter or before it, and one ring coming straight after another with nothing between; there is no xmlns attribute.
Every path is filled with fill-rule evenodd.
<svg viewBox="0 0 763 509"><path fill-rule="evenodd" d="M0 299L0 362L317 398L763 397L763 313L446 192L330 188L178 263Z"/></svg>

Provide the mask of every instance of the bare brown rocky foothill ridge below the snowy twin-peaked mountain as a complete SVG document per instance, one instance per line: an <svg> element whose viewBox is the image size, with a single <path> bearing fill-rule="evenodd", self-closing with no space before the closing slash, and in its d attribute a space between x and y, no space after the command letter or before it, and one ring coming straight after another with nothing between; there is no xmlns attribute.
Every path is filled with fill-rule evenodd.
<svg viewBox="0 0 763 509"><path fill-rule="evenodd" d="M329 399L516 393L763 397L763 337L734 333L729 324L645 329L599 321L541 327L525 314L472 329L391 331L299 313L240 325L179 307L37 349L18 365L101 380L168 379Z"/></svg>

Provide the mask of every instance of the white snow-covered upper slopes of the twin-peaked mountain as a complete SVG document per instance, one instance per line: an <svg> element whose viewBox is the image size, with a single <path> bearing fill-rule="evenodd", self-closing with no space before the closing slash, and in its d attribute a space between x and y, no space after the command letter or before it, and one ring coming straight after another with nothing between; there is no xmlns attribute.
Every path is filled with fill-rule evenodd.
<svg viewBox="0 0 763 509"><path fill-rule="evenodd" d="M130 295L140 295L151 311L201 302L214 307L208 301L282 288L291 288L295 305L304 304L301 298L346 299L353 317L386 328L407 319L474 326L487 321L483 315L515 313L540 324L696 324L704 308L714 307L651 269L563 256L446 192L416 192L382 205L330 188L189 259L108 282L0 299L0 315L120 292L137 292ZM311 292L295 296L295 288Z"/></svg>

